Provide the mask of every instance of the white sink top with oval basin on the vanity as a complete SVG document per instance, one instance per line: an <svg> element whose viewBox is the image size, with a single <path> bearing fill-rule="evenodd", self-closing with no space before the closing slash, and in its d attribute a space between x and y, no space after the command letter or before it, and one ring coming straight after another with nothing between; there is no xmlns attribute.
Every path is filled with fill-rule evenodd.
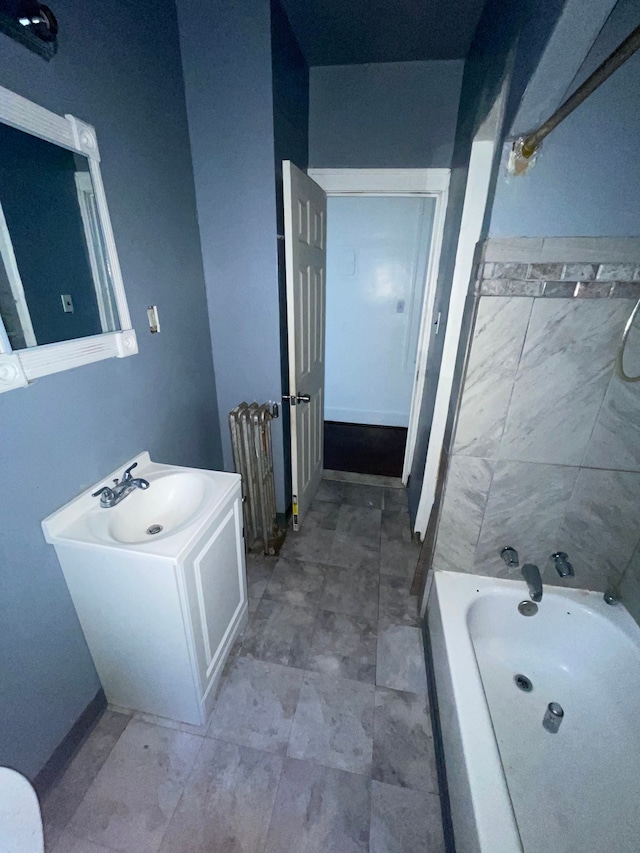
<svg viewBox="0 0 640 853"><path fill-rule="evenodd" d="M143 549L173 557L238 482L237 474L160 465L148 453L131 461L138 463L135 476L149 481L148 489L135 489L114 507L100 506L92 492L120 476L128 467L123 463L43 521L47 541Z"/></svg>

